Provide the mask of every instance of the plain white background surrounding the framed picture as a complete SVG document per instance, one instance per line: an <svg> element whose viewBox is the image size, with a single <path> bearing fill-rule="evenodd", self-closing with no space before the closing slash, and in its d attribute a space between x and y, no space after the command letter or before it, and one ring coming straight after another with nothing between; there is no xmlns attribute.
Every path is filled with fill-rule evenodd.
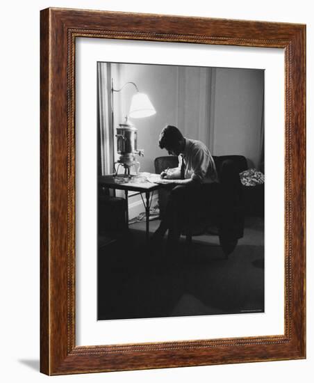
<svg viewBox="0 0 314 383"><path fill-rule="evenodd" d="M178 5L179 4L179 5ZM273 22L308 23L307 57L313 63L311 1L33 0L1 6L0 267L1 380L3 382L312 382L314 367L313 198L308 198L307 360L169 368L124 373L46 377L39 365L39 10L48 6L123 10ZM14 23L13 23L14 15ZM14 24L14 27L13 27ZM310 69L308 65L308 69ZM313 66L313 64L311 65ZM308 78L308 127L313 127L313 70ZM18 108L17 108L18 102ZM314 192L314 130L308 129L308 196Z"/></svg>

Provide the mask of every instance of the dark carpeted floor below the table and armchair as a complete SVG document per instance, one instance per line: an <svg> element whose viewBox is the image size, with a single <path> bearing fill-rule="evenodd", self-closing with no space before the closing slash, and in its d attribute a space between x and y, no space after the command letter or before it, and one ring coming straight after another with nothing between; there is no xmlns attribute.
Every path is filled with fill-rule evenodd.
<svg viewBox="0 0 314 383"><path fill-rule="evenodd" d="M158 221L150 222L153 232ZM181 237L170 260L144 245L145 223L99 249L98 319L160 318L264 311L263 219L249 217L245 237L224 259L218 237Z"/></svg>

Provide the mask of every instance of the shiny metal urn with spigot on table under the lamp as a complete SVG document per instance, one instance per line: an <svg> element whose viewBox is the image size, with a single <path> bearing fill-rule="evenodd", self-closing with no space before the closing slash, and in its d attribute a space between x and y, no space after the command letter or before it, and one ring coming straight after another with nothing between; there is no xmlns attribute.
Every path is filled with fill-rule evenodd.
<svg viewBox="0 0 314 383"><path fill-rule="evenodd" d="M117 127L117 153L119 159L115 162L115 176L118 175L119 167L124 166L124 176L131 178L131 167L138 175L140 163L135 155L144 157L144 150L138 149L138 130L126 117L123 124Z"/></svg>

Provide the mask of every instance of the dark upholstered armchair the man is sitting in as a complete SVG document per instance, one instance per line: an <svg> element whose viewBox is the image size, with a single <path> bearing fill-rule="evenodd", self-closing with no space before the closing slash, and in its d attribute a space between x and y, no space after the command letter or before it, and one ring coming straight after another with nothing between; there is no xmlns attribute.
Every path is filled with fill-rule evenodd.
<svg viewBox="0 0 314 383"><path fill-rule="evenodd" d="M208 201L207 208L199 209L189 217L188 224L183 228L188 245L194 235L206 233L208 226L217 227L220 245L226 256L236 247L238 239L243 236L245 205L243 188L239 173L247 169L247 159L241 155L226 155L213 157L218 173L217 201ZM178 159L174 156L158 157L155 159L155 171L161 173L167 168L178 166ZM167 187L158 189L160 217L165 214Z"/></svg>

